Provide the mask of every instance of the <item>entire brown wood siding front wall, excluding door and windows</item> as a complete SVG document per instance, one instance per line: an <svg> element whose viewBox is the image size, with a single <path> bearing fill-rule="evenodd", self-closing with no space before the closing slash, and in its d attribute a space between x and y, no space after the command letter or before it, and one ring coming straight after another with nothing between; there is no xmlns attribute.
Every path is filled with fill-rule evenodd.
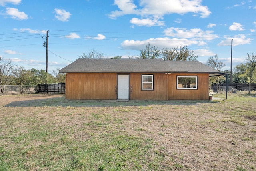
<svg viewBox="0 0 256 171"><path fill-rule="evenodd" d="M209 98L209 74L152 73L154 90L142 90L142 74L130 73L130 100L208 100ZM176 89L176 76L198 76L198 89ZM115 100L117 99L115 87L118 87L117 73L66 74L66 99Z"/></svg>

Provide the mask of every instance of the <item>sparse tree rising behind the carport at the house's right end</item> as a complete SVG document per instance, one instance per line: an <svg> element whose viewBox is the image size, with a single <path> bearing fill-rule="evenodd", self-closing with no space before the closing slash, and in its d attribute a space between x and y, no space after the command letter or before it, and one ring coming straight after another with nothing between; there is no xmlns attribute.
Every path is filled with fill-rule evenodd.
<svg viewBox="0 0 256 171"><path fill-rule="evenodd" d="M226 64L223 64L222 61L218 61L218 56L209 56L208 60L205 62L205 64L207 66L212 67L215 70L218 70L218 72L220 72L220 70L226 66ZM212 80L211 80L212 81ZM219 82L220 82L220 76L216 76L215 82L217 82L217 93L219 92Z"/></svg>

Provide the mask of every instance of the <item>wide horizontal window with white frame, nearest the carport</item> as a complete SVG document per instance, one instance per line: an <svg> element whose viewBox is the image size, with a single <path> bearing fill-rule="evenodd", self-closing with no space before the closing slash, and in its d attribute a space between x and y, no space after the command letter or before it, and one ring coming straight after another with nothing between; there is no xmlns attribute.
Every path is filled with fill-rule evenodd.
<svg viewBox="0 0 256 171"><path fill-rule="evenodd" d="M177 89L198 89L198 76L177 76Z"/></svg>

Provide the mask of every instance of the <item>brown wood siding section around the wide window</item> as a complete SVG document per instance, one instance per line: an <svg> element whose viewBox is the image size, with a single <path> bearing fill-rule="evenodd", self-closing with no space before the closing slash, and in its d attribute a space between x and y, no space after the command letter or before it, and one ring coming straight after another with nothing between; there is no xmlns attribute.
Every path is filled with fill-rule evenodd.
<svg viewBox="0 0 256 171"><path fill-rule="evenodd" d="M198 89L176 89L177 76L198 76ZM209 74L172 73L168 75L168 99L208 100Z"/></svg>

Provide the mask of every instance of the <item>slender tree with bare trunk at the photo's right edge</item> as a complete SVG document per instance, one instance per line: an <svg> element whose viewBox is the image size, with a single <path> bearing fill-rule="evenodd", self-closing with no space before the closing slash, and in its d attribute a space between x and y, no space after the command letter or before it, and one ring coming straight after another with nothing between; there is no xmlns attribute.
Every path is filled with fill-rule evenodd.
<svg viewBox="0 0 256 171"><path fill-rule="evenodd" d="M255 68L256 68L256 55L255 53L253 52L252 55L250 55L249 53L247 53L248 57L247 57L247 61L245 63L246 65L246 72L248 74L248 77L249 77L249 94L251 93L251 84L252 84L252 80L253 79L253 76L254 76L254 72L255 72Z"/></svg>

